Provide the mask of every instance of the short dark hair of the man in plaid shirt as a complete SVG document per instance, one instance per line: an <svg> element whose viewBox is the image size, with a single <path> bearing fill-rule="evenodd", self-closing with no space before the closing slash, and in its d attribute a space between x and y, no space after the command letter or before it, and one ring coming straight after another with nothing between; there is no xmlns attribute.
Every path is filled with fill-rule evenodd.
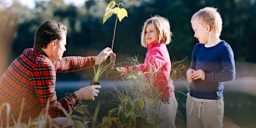
<svg viewBox="0 0 256 128"><path fill-rule="evenodd" d="M67 27L60 22L47 19L38 27L35 33L34 47L46 48L47 45L56 40L57 42L62 40L62 34L67 36Z"/></svg>

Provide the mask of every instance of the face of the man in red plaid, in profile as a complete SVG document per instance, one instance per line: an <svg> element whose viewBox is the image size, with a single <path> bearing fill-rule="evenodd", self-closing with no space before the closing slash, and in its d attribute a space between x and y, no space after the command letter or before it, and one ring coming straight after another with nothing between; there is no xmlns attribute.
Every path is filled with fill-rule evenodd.
<svg viewBox="0 0 256 128"><path fill-rule="evenodd" d="M60 61L62 56L63 56L63 53L66 51L66 35L65 33L62 33L62 40L58 41L56 43L56 48L55 50L53 51L53 61Z"/></svg>

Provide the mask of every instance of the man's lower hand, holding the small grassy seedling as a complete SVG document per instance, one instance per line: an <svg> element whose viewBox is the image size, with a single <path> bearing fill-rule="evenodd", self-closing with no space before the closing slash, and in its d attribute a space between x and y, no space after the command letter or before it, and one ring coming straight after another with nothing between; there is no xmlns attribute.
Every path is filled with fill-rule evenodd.
<svg viewBox="0 0 256 128"><path fill-rule="evenodd" d="M95 100L95 97L98 96L100 92L98 88L101 88L100 85L90 85L87 87L80 88L80 90L76 91L75 94L79 100Z"/></svg>

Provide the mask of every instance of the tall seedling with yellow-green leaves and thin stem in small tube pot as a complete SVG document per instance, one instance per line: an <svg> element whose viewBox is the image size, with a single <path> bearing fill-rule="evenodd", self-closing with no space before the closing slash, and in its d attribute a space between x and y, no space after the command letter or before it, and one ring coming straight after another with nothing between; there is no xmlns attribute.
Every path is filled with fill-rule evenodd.
<svg viewBox="0 0 256 128"><path fill-rule="evenodd" d="M112 16L113 13L116 14L116 22L115 22L111 50L113 50L113 47L114 47L117 19L119 19L119 22L121 22L123 18L128 17L128 13L127 13L126 9L120 8L120 5L124 6L123 3L117 4L115 1L111 1L107 5L106 11L105 11L105 14L103 17L103 24L104 24L107 21L107 19ZM117 7L115 7L115 6L117 6ZM106 63L107 64L112 63L109 70L114 70L115 60L116 60L116 55L114 53L112 53L109 57L107 57Z"/></svg>

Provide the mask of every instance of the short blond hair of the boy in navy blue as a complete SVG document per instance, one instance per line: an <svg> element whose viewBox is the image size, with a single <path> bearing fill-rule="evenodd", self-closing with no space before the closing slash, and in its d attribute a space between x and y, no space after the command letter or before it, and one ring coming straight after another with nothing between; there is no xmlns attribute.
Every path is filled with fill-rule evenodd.
<svg viewBox="0 0 256 128"><path fill-rule="evenodd" d="M204 7L192 16L191 21L193 21L195 18L198 18L199 22L204 26L209 24L209 26L213 28L220 36L222 30L222 19L217 8Z"/></svg>

